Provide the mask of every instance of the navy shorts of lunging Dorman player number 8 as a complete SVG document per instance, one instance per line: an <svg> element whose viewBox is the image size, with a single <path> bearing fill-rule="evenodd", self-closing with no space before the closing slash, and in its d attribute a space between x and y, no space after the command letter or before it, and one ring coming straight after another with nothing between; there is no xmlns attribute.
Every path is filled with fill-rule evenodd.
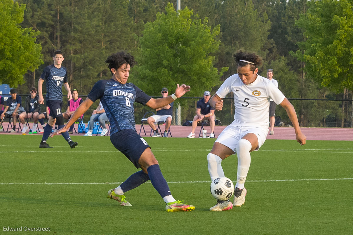
<svg viewBox="0 0 353 235"><path fill-rule="evenodd" d="M122 152L132 162L136 168L140 168L138 159L142 153L151 148L147 142L140 137L133 129L121 130L113 135L110 135L110 141L114 147Z"/></svg>

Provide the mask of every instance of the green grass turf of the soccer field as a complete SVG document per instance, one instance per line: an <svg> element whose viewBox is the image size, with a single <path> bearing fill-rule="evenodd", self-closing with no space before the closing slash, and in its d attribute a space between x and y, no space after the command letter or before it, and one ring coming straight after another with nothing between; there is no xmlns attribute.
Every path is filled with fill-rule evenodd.
<svg viewBox="0 0 353 235"><path fill-rule="evenodd" d="M295 140L267 140L260 151L251 153L245 205L211 212L215 199L209 192L206 156L214 139L147 137L174 198L196 206L192 212L168 213L151 183L125 193L132 207L107 198L109 189L136 171L109 137L74 136L75 149L60 136L48 140L54 149L39 149L40 140L40 135L0 135L0 234L353 231L350 141L311 140L300 146ZM237 156L225 159L222 166L235 183ZM50 231L3 230L21 226Z"/></svg>

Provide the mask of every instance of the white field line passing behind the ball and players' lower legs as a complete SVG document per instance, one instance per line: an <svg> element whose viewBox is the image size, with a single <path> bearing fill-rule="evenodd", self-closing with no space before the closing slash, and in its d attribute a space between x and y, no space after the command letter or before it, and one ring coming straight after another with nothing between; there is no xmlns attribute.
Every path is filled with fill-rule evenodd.
<svg viewBox="0 0 353 235"><path fill-rule="evenodd" d="M287 179L287 180L247 180L246 182L286 182L286 181L327 181L327 180L353 180L353 178L334 178L334 179ZM210 183L211 181L169 181L168 183ZM82 182L82 183L0 183L0 185L109 185L121 184L122 182ZM151 183L151 182L146 182Z"/></svg>

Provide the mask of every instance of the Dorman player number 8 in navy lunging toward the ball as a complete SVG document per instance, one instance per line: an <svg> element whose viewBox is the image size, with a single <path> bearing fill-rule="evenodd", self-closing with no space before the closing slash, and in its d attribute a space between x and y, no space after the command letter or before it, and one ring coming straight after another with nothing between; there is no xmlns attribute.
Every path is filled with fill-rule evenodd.
<svg viewBox="0 0 353 235"><path fill-rule="evenodd" d="M110 141L116 149L142 170L128 177L120 186L108 191L108 198L114 199L122 206L131 206L126 201L124 193L151 180L153 187L161 195L166 205L166 211L191 211L195 206L177 201L170 193L167 181L164 179L158 162L147 142L136 133L134 119L134 102L157 109L172 103L178 97L190 90L185 84L175 90L175 94L158 99L151 98L132 83L127 83L130 67L134 66L134 58L126 52L110 55L105 61L113 77L109 80L96 82L88 94L88 98L71 115L66 125L53 135L66 132L97 99L100 99L110 122Z"/></svg>

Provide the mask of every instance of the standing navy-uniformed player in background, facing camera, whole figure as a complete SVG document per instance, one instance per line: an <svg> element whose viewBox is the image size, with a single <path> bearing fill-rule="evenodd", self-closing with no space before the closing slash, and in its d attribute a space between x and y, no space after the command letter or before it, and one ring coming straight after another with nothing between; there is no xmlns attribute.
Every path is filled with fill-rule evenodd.
<svg viewBox="0 0 353 235"><path fill-rule="evenodd" d="M44 128L42 141L39 145L40 148L52 148L49 146L49 144L47 144L47 139L49 138L49 135L52 133L52 128L55 121L58 124L59 128L64 126L64 117L62 116L62 113L61 113L61 107L62 107L62 88L61 87L63 85L67 90L67 99L68 100L72 99L70 86L67 83L66 68L64 66L61 66L61 63L64 60L64 53L62 53L61 50L56 50L54 52L53 60L54 60L54 64L44 68L44 71L38 81L39 103L44 104L42 85L43 85L43 82L46 81L46 86L47 86L46 101L47 101L47 106L50 109L48 123ZM70 135L68 134L67 131L61 134L68 142L71 149L73 149L77 145L77 142L74 142L71 140Z"/></svg>

